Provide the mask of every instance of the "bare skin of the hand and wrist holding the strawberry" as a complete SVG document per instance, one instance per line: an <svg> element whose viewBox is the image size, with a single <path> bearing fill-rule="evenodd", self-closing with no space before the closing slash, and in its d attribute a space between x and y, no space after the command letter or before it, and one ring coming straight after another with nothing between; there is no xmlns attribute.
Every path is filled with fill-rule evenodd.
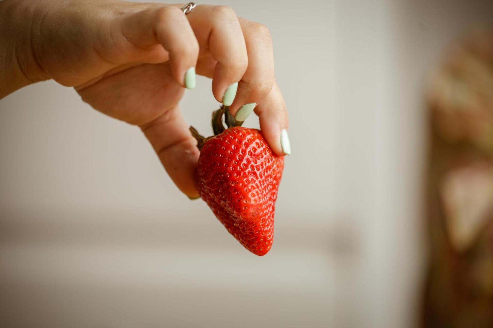
<svg viewBox="0 0 493 328"><path fill-rule="evenodd" d="M212 79L222 102L239 82L230 111L256 102L260 128L283 156L287 112L274 77L269 30L226 6L113 0L0 1L0 98L38 81L74 87L82 100L139 126L176 186L198 197L199 157L178 102L190 67Z"/></svg>

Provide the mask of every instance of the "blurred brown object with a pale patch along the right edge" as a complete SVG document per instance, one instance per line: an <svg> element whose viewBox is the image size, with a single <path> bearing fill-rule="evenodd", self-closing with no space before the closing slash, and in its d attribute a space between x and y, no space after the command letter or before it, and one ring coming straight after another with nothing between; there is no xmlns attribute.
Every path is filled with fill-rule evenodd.
<svg viewBox="0 0 493 328"><path fill-rule="evenodd" d="M493 327L493 31L448 53L428 96L425 327Z"/></svg>

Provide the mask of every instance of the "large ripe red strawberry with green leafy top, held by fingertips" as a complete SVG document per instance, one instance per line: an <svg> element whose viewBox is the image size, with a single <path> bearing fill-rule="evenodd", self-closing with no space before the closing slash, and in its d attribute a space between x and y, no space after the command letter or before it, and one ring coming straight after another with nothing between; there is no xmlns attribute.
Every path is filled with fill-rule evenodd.
<svg viewBox="0 0 493 328"><path fill-rule="evenodd" d="M222 114L226 124L222 126ZM274 211L284 160L262 133L240 127L222 107L213 114L215 136L198 140L197 187L214 215L247 250L267 254L274 237Z"/></svg>

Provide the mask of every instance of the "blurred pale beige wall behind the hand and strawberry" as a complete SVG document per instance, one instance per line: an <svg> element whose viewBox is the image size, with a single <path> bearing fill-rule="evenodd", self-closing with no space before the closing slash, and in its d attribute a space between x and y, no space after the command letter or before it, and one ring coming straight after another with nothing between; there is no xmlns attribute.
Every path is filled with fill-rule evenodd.
<svg viewBox="0 0 493 328"><path fill-rule="evenodd" d="M492 1L208 3L273 36L293 151L272 250L181 195L138 128L38 83L0 101L0 326L422 325L426 86ZM217 107L205 78L181 103L205 134Z"/></svg>

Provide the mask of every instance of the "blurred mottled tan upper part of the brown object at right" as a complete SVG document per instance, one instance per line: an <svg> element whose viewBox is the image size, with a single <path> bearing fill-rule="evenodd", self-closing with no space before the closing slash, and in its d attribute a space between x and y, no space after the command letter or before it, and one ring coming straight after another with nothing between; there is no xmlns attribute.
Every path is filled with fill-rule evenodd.
<svg viewBox="0 0 493 328"><path fill-rule="evenodd" d="M493 152L493 33L454 47L432 85L433 129L443 141Z"/></svg>

